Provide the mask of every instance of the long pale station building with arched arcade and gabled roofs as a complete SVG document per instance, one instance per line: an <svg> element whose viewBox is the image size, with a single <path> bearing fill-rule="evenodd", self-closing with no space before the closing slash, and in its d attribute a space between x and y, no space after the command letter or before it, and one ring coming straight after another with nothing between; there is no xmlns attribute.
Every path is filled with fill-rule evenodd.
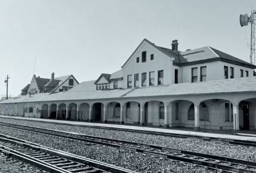
<svg viewBox="0 0 256 173"><path fill-rule="evenodd" d="M1 114L36 118L192 127L256 129L256 66L213 47L180 52L144 39L120 71L95 81L73 75L40 78L15 98L1 101Z"/></svg>

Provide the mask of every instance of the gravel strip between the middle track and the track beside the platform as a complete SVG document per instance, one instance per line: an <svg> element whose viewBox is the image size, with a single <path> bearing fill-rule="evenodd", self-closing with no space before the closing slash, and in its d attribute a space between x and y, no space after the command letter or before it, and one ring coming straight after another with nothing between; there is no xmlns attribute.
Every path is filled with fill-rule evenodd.
<svg viewBox="0 0 256 173"><path fill-rule="evenodd" d="M7 123L21 124L25 126L40 127L46 129L76 132L93 136L108 137L131 142L146 143L151 145L165 146L168 148L189 150L211 155L225 156L229 158L256 161L256 148L252 146L227 145L223 143L207 142L199 139L182 139L179 137L156 136L151 134L121 132L117 130L105 130L89 127L67 126L62 124L41 123L23 120L11 120L0 118Z"/></svg>

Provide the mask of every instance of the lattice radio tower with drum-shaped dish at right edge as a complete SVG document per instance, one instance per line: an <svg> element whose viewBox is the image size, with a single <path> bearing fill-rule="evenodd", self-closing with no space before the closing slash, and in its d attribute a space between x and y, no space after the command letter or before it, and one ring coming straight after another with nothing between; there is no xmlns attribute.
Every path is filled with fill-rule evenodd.
<svg viewBox="0 0 256 173"><path fill-rule="evenodd" d="M251 44L249 44L249 47L251 47L250 52L250 63L255 65L255 32L256 32L256 11L251 10L251 16L248 17L248 14L241 14L240 15L240 25L241 27L248 25L248 23L251 24Z"/></svg>

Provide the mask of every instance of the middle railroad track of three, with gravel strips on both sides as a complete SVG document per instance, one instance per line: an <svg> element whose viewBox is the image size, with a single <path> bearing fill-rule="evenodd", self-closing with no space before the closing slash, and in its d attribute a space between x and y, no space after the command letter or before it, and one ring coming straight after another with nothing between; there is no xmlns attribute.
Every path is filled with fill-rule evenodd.
<svg viewBox="0 0 256 173"><path fill-rule="evenodd" d="M161 158L183 161L191 164L208 166L218 170L233 172L256 172L256 162L244 161L241 159L227 158L223 156L208 155L204 153L191 152L163 146L147 145L144 143L129 142L105 137L89 136L85 134L61 132L58 130L42 129L38 127L22 126L18 124L0 123L1 126L13 127L30 132L43 133L52 136L70 139L73 142L87 142L96 145L111 146L114 148L127 149L132 152L141 152ZM0 134L1 136L1 134Z"/></svg>

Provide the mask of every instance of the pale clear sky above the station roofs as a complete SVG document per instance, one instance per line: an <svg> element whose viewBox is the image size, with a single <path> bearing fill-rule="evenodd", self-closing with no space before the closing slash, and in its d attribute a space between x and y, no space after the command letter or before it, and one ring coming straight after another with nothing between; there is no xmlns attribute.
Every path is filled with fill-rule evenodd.
<svg viewBox="0 0 256 173"><path fill-rule="evenodd" d="M41 78L96 80L121 69L143 39L179 50L211 46L249 62L250 27L239 15L256 1L0 0L0 96ZM35 63L36 57L36 63Z"/></svg>

